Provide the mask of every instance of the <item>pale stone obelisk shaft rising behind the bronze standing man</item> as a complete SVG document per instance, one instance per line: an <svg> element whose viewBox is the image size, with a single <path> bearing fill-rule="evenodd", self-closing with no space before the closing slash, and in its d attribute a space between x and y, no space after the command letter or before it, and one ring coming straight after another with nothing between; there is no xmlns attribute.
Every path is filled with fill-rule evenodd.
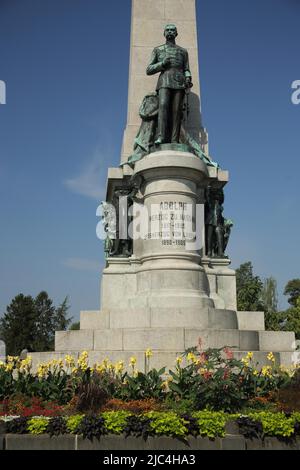
<svg viewBox="0 0 300 470"><path fill-rule="evenodd" d="M144 96L154 92L158 75L147 77L146 68L154 47L164 44L165 25L175 23L177 44L188 50L194 87L190 96L190 115L186 127L199 138L203 131L200 111L200 83L195 0L132 0L131 44L128 90L127 127L124 134L122 158L132 154L134 139L141 124L139 107ZM206 136L204 136L206 138Z"/></svg>

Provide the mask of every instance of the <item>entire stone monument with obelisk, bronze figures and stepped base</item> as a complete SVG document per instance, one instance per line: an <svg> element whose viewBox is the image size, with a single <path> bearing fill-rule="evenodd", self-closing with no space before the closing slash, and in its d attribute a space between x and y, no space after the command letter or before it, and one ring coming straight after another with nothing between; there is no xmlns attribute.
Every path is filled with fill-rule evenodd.
<svg viewBox="0 0 300 470"><path fill-rule="evenodd" d="M101 309L81 312L80 331L57 332L55 352L33 361L84 350L91 364L135 356L142 370L150 348L151 367L173 367L201 339L290 364L293 333L265 331L263 312L237 312L229 173L210 157L202 124L195 0L132 0L130 51L121 164L108 171L103 203Z"/></svg>

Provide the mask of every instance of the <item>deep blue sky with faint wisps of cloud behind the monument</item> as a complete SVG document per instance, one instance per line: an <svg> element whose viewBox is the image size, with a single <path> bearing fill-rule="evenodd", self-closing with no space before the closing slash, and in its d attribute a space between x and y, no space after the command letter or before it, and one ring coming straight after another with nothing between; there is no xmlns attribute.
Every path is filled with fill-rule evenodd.
<svg viewBox="0 0 300 470"><path fill-rule="evenodd" d="M197 3L203 119L231 174L229 254L282 293L300 277L300 1ZM126 125L130 4L0 0L0 312L41 290L69 295L74 319L99 308L96 209Z"/></svg>

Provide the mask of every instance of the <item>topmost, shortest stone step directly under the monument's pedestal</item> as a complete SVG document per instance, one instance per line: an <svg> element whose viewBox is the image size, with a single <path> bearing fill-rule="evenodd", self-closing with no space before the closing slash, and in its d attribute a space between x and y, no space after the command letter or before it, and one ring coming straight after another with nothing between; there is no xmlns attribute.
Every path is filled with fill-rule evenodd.
<svg viewBox="0 0 300 470"><path fill-rule="evenodd" d="M201 328L238 329L236 312L232 310L195 308L112 309L81 312L81 330L107 328ZM252 328L249 328L251 330Z"/></svg>

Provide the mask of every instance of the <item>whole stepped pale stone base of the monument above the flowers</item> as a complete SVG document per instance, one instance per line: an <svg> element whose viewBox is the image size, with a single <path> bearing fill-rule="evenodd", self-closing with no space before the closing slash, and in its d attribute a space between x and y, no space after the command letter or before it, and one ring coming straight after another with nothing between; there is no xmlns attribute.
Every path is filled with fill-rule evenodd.
<svg viewBox="0 0 300 470"><path fill-rule="evenodd" d="M201 344L202 349L225 346L232 348L241 359L247 352L254 353L253 364L270 364L273 352L278 365L296 361L295 335L289 332L264 331L261 312L234 312L229 310L149 309L140 311L81 312L79 331L56 333L55 352L35 353L33 367L66 354L77 358L82 351L89 352L90 365L109 359L112 363L137 358L137 368L145 370L145 350L152 349L148 367L174 369L176 358L186 349Z"/></svg>

